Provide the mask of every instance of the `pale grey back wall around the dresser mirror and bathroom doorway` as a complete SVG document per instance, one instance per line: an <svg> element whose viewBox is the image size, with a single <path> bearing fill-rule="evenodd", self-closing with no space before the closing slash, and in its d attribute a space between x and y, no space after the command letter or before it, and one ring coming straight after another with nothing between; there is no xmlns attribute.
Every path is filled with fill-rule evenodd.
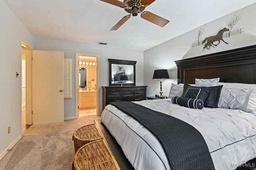
<svg viewBox="0 0 256 170"><path fill-rule="evenodd" d="M75 68L76 68L76 55L75 53L84 53L90 55L99 55L99 82L97 86L99 90L99 113L102 111L102 87L108 86L108 59L120 59L137 61L136 63L136 85L144 85L144 69L143 69L143 51L134 51L127 49L119 49L108 47L108 45L90 45L86 43L76 43L70 41L61 41L54 39L46 39L36 37L35 41L36 50L48 50L48 51L64 51L64 58L73 59L73 85L72 90L75 94ZM75 104L76 95L73 98L64 99L64 118L75 116Z"/></svg>

